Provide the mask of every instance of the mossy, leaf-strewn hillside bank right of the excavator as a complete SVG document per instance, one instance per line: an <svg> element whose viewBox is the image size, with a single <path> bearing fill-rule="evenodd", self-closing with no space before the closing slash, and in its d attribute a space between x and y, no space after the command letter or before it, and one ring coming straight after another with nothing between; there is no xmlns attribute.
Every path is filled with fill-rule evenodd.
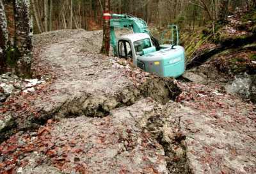
<svg viewBox="0 0 256 174"><path fill-rule="evenodd" d="M182 34L187 72L198 75L198 81L221 84L228 92L256 102L256 12L240 10L228 16L227 24L217 23L214 33L212 25L190 33Z"/></svg>

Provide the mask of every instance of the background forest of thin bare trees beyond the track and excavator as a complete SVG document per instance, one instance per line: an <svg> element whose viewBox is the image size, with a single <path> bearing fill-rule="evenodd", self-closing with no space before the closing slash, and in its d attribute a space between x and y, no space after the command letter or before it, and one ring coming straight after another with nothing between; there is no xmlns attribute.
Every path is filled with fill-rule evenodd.
<svg viewBox="0 0 256 174"><path fill-rule="evenodd" d="M8 1L6 1L8 3ZM12 3L9 3L12 6ZM110 1L111 13L127 13L144 19L158 29L177 24L193 29L232 15L237 8L253 8L254 0L115 0ZM34 32L56 29L95 30L102 28L104 1L100 0L32 0Z"/></svg>

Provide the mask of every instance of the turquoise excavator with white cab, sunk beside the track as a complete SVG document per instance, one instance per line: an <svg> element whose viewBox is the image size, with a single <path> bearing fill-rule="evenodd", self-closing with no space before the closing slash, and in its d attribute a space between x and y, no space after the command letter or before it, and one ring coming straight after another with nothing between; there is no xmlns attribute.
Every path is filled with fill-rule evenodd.
<svg viewBox="0 0 256 174"><path fill-rule="evenodd" d="M132 34L116 37L115 29L130 29ZM164 35L171 31L170 39ZM134 66L160 77L179 77L185 71L185 51L179 45L177 26L168 26L162 43L151 35L143 19L126 14L111 14L110 38L113 54L131 59Z"/></svg>

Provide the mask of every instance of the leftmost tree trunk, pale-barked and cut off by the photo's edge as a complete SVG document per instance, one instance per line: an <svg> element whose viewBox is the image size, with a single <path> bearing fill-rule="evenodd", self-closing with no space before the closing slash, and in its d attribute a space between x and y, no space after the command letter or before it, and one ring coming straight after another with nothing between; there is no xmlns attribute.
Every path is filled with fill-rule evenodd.
<svg viewBox="0 0 256 174"><path fill-rule="evenodd" d="M7 20L4 12L3 0L0 0L0 73L6 68L5 52L8 44Z"/></svg>

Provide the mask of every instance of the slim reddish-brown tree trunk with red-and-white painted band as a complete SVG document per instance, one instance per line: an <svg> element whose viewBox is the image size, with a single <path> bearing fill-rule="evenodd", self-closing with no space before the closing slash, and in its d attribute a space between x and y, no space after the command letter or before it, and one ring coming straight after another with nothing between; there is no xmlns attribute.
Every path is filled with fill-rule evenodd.
<svg viewBox="0 0 256 174"><path fill-rule="evenodd" d="M109 55L110 49L110 14L109 14L110 2L105 0L104 13L103 13L103 40L100 53Z"/></svg>

